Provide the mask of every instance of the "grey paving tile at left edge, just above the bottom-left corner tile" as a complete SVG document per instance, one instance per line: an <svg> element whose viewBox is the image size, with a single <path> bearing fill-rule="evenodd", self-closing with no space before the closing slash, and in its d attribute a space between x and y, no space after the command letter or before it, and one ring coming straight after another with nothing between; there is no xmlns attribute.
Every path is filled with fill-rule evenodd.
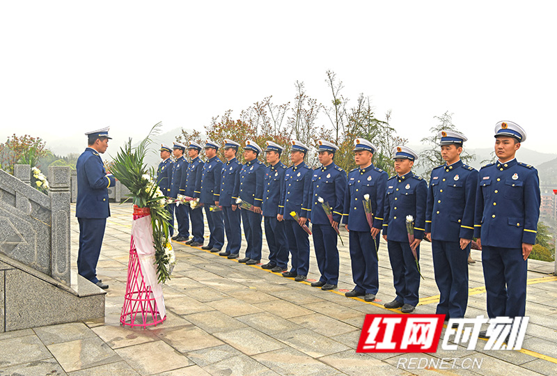
<svg viewBox="0 0 557 376"><path fill-rule="evenodd" d="M0 340L0 367L48 358L52 358L52 354L34 334Z"/></svg>

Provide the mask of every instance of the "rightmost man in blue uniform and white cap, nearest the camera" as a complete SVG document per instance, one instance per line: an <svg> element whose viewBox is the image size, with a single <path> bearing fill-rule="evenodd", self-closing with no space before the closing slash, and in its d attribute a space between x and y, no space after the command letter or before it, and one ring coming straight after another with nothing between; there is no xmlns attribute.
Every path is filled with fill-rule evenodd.
<svg viewBox="0 0 557 376"><path fill-rule="evenodd" d="M515 158L526 132L510 121L495 127L497 162L480 169L474 235L482 249L487 314L524 316L528 256L540 217L538 171ZM482 333L485 336L485 333Z"/></svg>

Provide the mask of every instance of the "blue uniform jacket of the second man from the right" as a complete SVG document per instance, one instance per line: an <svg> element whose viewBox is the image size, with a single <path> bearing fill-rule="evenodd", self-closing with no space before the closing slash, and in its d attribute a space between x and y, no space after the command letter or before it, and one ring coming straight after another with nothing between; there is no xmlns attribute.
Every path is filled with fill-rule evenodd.
<svg viewBox="0 0 557 376"><path fill-rule="evenodd" d="M432 239L472 239L477 185L478 171L462 161L433 169L425 210L425 232Z"/></svg>

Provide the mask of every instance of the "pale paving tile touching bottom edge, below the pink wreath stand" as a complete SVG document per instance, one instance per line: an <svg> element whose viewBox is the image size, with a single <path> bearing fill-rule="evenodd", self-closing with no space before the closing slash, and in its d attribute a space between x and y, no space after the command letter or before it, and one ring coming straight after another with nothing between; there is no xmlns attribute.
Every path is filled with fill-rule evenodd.
<svg viewBox="0 0 557 376"><path fill-rule="evenodd" d="M115 350L140 375L152 375L193 363L162 340Z"/></svg>

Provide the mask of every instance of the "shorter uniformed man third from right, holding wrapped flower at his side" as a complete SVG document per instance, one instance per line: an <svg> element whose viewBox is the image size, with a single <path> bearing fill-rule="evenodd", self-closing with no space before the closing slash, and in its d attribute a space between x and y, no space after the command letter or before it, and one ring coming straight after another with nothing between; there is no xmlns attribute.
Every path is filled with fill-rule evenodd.
<svg viewBox="0 0 557 376"><path fill-rule="evenodd" d="M425 231L427 183L411 169L418 155L411 148L397 146L393 150L397 174L387 180L383 238L387 241L393 270L396 297L384 304L386 308L401 308L411 313L418 305L420 274L412 250L420 258L420 242ZM406 227L407 216L414 219L414 242L410 244Z"/></svg>

